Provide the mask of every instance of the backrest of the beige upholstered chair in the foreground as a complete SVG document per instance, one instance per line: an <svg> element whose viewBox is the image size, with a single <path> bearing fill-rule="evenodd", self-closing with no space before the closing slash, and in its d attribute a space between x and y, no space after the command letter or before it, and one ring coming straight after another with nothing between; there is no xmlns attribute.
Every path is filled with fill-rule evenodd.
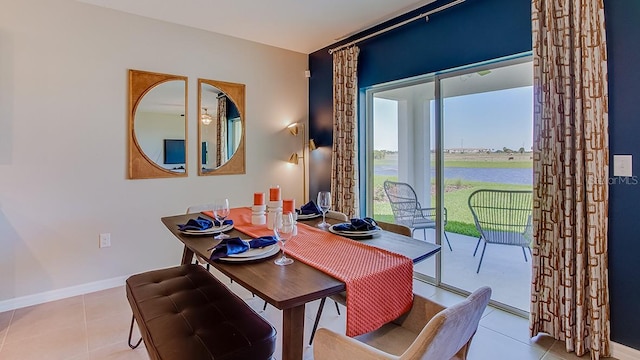
<svg viewBox="0 0 640 360"><path fill-rule="evenodd" d="M400 359L451 359L460 352L464 352L460 358L465 358L490 298L491 288L484 286L462 302L440 311Z"/></svg>

